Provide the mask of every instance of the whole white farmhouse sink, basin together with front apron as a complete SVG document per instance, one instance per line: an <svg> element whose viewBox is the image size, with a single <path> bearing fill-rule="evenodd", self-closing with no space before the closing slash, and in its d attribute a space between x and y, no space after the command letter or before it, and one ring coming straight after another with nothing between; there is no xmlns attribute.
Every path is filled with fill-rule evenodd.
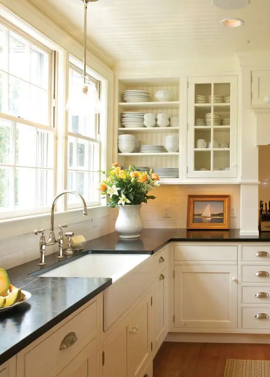
<svg viewBox="0 0 270 377"><path fill-rule="evenodd" d="M106 331L152 286L153 259L148 254L87 254L40 277L111 278L103 292Z"/></svg>

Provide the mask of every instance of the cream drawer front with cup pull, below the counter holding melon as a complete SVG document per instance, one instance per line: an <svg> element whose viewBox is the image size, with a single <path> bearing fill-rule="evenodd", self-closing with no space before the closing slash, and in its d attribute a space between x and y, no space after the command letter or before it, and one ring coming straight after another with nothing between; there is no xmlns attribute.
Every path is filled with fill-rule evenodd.
<svg viewBox="0 0 270 377"><path fill-rule="evenodd" d="M66 365L74 358L75 352L79 352L84 341L91 334L94 335L96 329L97 303L95 300L47 338L43 336L41 341L38 339L22 350L17 355L17 362L21 365L17 377L43 377L47 376L58 364ZM68 348L60 350L61 342L71 332L75 333L77 341ZM74 340L74 336L71 338Z"/></svg>

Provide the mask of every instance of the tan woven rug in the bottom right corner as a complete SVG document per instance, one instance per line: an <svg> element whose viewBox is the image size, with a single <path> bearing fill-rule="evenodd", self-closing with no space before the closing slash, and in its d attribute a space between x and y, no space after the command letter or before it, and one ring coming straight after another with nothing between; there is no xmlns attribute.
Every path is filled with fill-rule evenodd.
<svg viewBox="0 0 270 377"><path fill-rule="evenodd" d="M270 377L270 361L227 359L224 377Z"/></svg>

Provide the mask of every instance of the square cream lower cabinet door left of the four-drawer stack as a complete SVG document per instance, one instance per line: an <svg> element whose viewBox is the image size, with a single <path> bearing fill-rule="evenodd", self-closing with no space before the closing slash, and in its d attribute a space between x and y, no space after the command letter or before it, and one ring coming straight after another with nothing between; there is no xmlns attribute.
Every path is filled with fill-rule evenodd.
<svg viewBox="0 0 270 377"><path fill-rule="evenodd" d="M174 268L175 328L237 327L237 266L175 265Z"/></svg>

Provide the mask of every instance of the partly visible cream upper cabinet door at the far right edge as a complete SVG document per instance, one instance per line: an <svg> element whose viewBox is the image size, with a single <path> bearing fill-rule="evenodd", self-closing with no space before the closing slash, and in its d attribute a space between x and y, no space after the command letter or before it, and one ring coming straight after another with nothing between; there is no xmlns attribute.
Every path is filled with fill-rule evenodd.
<svg viewBox="0 0 270 377"><path fill-rule="evenodd" d="M269 106L264 102L264 96L270 96L270 70L253 70L251 80L252 106Z"/></svg>

